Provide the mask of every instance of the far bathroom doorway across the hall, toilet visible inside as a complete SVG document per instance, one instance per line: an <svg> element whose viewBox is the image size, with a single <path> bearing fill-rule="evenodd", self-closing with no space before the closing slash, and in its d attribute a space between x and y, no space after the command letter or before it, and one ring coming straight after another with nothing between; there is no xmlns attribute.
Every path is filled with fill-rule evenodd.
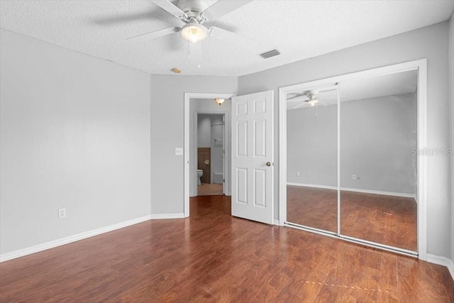
<svg viewBox="0 0 454 303"><path fill-rule="evenodd" d="M225 194L225 114L197 116L197 196Z"/></svg>

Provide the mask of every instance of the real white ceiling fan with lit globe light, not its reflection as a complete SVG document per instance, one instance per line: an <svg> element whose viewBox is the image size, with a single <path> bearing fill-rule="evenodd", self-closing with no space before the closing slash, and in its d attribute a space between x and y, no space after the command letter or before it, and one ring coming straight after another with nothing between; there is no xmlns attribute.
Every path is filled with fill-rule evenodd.
<svg viewBox="0 0 454 303"><path fill-rule="evenodd" d="M206 39L208 35L220 40L242 40L243 43L253 42L243 38L236 33L226 31L223 28L211 26L206 28L204 23L210 23L222 16L235 11L236 9L252 2L252 0L220 0L210 5L212 1L203 0L179 0L177 5L168 0L152 0L161 9L171 13L176 18L184 22L182 27L174 26L159 31L135 35L127 40L152 40L165 35L181 32L184 39L191 43L197 43Z"/></svg>

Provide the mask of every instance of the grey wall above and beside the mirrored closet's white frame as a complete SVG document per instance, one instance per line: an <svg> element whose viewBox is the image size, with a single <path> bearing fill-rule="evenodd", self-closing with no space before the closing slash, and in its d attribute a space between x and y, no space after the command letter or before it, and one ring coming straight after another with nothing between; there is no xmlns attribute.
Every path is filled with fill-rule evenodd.
<svg viewBox="0 0 454 303"><path fill-rule="evenodd" d="M275 90L291 84L324 79L350 72L399 62L428 58L428 147L450 144L448 93L448 22L394 35L389 38L346 48L290 65L246 75L238 79L238 94ZM272 59L271 59L272 60ZM275 121L278 121L278 102ZM275 123L275 142L278 142L278 123ZM275 159L278 146L275 145ZM450 158L443 155L428 157L428 253L450 255ZM279 173L279 161L275 161ZM277 210L278 184L275 184ZM275 219L278 218L277 212Z"/></svg>

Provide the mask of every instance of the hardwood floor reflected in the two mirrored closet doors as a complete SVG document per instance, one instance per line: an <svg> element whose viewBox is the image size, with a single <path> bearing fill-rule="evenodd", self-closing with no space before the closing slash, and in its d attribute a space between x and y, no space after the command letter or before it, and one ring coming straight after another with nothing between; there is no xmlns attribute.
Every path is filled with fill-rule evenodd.
<svg viewBox="0 0 454 303"><path fill-rule="evenodd" d="M337 191L287 187L287 221L337 232ZM413 198L341 191L341 233L417 250L417 209Z"/></svg>

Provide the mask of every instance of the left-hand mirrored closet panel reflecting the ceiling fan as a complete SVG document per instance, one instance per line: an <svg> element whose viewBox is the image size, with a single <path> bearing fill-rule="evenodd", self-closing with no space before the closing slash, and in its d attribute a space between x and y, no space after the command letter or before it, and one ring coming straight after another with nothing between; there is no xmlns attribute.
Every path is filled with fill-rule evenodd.
<svg viewBox="0 0 454 303"><path fill-rule="evenodd" d="M287 221L337 233L338 88L287 94Z"/></svg>

